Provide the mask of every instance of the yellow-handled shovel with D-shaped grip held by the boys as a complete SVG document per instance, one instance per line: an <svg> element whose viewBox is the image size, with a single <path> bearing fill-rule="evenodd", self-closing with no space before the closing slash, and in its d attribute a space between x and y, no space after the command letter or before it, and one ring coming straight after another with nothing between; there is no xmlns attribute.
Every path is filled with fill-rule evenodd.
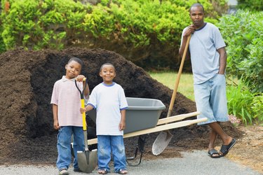
<svg viewBox="0 0 263 175"><path fill-rule="evenodd" d="M83 81L86 82L86 78L83 78ZM76 80L75 80L76 85ZM85 108L84 106L84 90L86 89L87 82L83 87L83 91L79 90L79 87L76 85L76 88L79 90L81 94L81 108ZM77 152L78 165L81 172L91 173L97 166L97 150L89 151L88 150L88 137L87 137L87 125L86 125L86 113L82 113L83 120L83 134L84 134L84 144L85 150Z"/></svg>

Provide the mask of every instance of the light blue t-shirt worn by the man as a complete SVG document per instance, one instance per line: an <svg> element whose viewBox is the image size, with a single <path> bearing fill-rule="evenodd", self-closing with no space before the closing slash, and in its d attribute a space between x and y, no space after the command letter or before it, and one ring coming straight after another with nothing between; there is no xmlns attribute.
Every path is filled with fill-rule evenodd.
<svg viewBox="0 0 263 175"><path fill-rule="evenodd" d="M185 29L187 28L184 28L182 34L184 34ZM220 30L209 22L191 34L189 51L194 84L204 83L218 73L220 55L217 49L225 46Z"/></svg>

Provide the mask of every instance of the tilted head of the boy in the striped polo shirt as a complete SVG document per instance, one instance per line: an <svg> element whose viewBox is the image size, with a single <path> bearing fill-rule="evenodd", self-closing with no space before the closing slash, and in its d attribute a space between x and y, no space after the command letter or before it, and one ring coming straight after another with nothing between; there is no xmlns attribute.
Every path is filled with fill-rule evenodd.
<svg viewBox="0 0 263 175"><path fill-rule="evenodd" d="M83 66L83 62L81 59L77 57L72 57L69 59L69 62L67 62L65 69L66 69L66 78L72 79L76 76L79 76L81 73L81 68Z"/></svg>

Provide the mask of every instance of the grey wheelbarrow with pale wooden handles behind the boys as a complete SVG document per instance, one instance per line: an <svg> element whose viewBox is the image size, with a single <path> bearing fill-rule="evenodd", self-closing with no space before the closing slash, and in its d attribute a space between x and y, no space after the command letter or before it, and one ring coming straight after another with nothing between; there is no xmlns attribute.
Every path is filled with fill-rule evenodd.
<svg viewBox="0 0 263 175"><path fill-rule="evenodd" d="M208 118L183 120L185 118L199 115L200 112L198 111L159 119L163 109L166 109L166 106L161 100L133 97L126 97L126 99L128 102L128 109L126 110L126 129L123 131L123 138L139 136L135 156L133 158L136 157L137 151L140 151L140 162L142 160L142 152L146 139L146 137L142 135L171 130L177 127L193 125L208 120ZM95 122L96 111L88 111L88 116ZM88 145L92 144L97 144L97 139L88 139ZM139 165L140 162L137 165Z"/></svg>

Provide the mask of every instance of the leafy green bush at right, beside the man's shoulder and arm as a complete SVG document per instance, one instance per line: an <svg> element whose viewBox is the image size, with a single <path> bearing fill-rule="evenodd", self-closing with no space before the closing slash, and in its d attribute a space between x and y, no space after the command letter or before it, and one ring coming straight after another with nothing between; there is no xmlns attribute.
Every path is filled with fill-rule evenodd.
<svg viewBox="0 0 263 175"><path fill-rule="evenodd" d="M227 72L243 77L252 92L263 92L263 12L224 15L220 29L227 43Z"/></svg>

